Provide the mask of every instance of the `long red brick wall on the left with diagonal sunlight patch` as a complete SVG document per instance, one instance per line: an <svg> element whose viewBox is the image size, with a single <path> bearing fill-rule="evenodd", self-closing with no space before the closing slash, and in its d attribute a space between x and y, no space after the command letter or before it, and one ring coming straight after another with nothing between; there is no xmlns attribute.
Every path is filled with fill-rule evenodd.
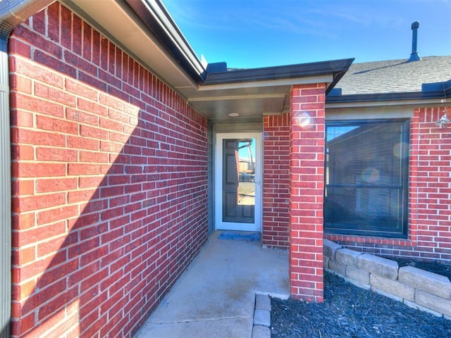
<svg viewBox="0 0 451 338"><path fill-rule="evenodd" d="M61 4L9 46L13 337L131 337L206 242L206 119Z"/></svg>

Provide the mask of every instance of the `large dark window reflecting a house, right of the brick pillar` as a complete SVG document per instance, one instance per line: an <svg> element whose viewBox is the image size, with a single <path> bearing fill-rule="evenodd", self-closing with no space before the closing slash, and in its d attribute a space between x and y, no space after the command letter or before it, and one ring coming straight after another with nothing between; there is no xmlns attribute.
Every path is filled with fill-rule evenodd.
<svg viewBox="0 0 451 338"><path fill-rule="evenodd" d="M326 124L326 232L407 235L409 123Z"/></svg>

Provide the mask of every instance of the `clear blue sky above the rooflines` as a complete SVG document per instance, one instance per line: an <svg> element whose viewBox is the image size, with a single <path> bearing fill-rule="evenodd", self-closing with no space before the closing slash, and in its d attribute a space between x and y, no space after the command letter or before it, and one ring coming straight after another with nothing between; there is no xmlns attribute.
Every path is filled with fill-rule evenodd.
<svg viewBox="0 0 451 338"><path fill-rule="evenodd" d="M231 68L451 55L451 0L162 0L197 56Z"/></svg>

